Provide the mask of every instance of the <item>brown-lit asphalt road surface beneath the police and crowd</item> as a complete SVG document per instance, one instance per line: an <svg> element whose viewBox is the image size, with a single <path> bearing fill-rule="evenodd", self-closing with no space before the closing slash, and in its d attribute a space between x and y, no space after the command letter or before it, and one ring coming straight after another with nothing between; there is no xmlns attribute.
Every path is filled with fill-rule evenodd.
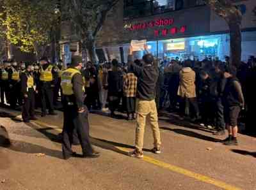
<svg viewBox="0 0 256 190"><path fill-rule="evenodd" d="M0 112L11 112L0 109ZM19 115L12 112L12 115ZM256 138L239 135L239 146L226 147L211 131L160 117L162 151L152 154L152 131L145 131L145 158L132 150L135 122L90 114L97 159L62 159L58 133L62 113L24 124L1 113L0 124L12 145L0 138L0 189L256 189ZM4 128L1 128L3 131ZM79 146L74 150L81 152ZM42 153L42 154L39 154Z"/></svg>

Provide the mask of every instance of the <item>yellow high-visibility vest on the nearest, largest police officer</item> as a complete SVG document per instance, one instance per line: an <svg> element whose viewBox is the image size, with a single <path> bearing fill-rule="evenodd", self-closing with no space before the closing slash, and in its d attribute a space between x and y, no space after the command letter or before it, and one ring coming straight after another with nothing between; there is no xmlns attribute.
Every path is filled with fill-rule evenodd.
<svg viewBox="0 0 256 190"><path fill-rule="evenodd" d="M63 92L63 95L70 96L74 94L73 91L73 84L72 84L72 78L74 75L79 74L81 75L81 72L77 69L68 68L65 70L61 75L61 89Z"/></svg>

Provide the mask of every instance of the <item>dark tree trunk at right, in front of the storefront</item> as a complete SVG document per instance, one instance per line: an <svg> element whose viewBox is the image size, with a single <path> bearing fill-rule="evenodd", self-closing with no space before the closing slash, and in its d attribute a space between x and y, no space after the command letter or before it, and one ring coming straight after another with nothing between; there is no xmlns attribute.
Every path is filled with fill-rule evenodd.
<svg viewBox="0 0 256 190"><path fill-rule="evenodd" d="M230 29L230 64L238 68L241 64L242 54L241 20L233 16L230 18L228 26Z"/></svg>

